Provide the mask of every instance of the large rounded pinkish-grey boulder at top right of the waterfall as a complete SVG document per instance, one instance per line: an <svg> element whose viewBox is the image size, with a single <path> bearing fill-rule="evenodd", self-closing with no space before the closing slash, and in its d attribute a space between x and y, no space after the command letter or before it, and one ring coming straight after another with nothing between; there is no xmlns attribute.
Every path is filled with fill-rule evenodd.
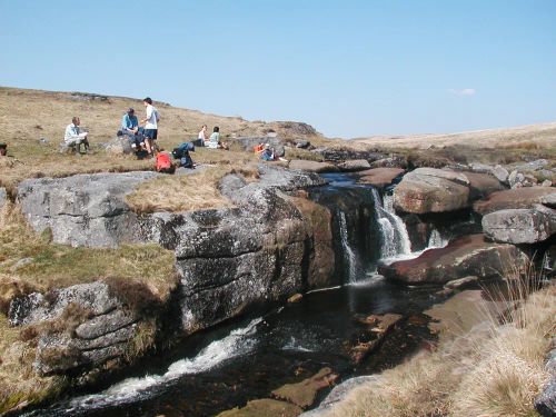
<svg viewBox="0 0 556 417"><path fill-rule="evenodd" d="M423 215L469 206L469 180L460 172L418 168L394 189L396 210Z"/></svg>

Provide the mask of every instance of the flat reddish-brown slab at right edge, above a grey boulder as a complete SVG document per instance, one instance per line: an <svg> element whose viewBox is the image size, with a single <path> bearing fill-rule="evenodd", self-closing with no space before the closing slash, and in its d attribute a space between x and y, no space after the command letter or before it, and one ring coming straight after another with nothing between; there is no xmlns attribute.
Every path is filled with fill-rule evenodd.
<svg viewBox="0 0 556 417"><path fill-rule="evenodd" d="M476 201L473 209L485 216L498 210L533 208L535 205L543 203L544 199L552 201L555 198L556 189L552 187L516 188L493 192L486 199Z"/></svg>

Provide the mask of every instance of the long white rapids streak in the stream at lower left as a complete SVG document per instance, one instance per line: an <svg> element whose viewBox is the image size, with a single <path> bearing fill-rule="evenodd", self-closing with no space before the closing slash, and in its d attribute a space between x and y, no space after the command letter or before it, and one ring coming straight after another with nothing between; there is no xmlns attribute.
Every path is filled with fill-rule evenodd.
<svg viewBox="0 0 556 417"><path fill-rule="evenodd" d="M255 348L256 340L249 336L255 335L257 325L261 321L261 318L255 319L245 328L236 329L224 339L212 341L193 358L183 358L175 361L163 375L128 378L112 385L100 394L75 398L66 411L85 406L101 408L110 404L133 401L138 396L148 395L149 388L165 385L183 375L199 374L212 369L226 360L246 355Z"/></svg>

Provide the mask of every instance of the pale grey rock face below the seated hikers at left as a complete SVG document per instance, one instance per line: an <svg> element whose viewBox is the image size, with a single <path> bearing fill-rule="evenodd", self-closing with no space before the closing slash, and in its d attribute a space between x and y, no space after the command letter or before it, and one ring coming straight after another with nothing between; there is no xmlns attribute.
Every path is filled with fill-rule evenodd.
<svg viewBox="0 0 556 417"><path fill-rule="evenodd" d="M56 242L116 247L141 241L137 216L123 201L156 172L78 175L30 179L18 187L18 201L38 231L52 230Z"/></svg>

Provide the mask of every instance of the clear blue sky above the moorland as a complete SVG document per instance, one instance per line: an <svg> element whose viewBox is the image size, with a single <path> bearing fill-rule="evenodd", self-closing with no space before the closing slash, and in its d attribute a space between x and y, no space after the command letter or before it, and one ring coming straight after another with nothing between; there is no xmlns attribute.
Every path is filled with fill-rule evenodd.
<svg viewBox="0 0 556 417"><path fill-rule="evenodd" d="M0 0L0 85L329 137L556 120L555 0Z"/></svg>

